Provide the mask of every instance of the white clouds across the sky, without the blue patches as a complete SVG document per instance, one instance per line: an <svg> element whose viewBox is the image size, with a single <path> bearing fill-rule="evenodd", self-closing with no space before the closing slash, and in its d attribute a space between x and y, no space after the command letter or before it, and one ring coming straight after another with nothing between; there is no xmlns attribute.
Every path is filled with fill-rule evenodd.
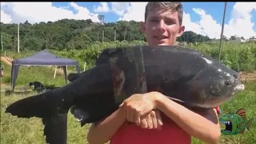
<svg viewBox="0 0 256 144"><path fill-rule="evenodd" d="M144 21L145 6L147 2L100 2L98 7L94 6L94 13L84 6L78 6L70 2L66 7L52 6L52 2L1 2L1 22L18 23L26 22L55 22L62 18L92 19L99 22L97 12L113 12L118 14L119 20ZM227 3L229 5L229 3ZM220 9L222 10L222 9ZM256 2L236 2L231 11L231 16L226 19L224 35L230 38L232 35L250 38L256 36L253 29L252 12L256 10ZM193 9L194 14L198 14L198 22L191 20L191 14L184 11L183 25L186 30L192 30L197 34L207 35L210 38L220 38L222 22L217 22L207 13L207 10L200 8ZM227 11L228 12L228 11ZM220 15L222 18L222 15ZM255 17L255 16L254 16Z"/></svg>

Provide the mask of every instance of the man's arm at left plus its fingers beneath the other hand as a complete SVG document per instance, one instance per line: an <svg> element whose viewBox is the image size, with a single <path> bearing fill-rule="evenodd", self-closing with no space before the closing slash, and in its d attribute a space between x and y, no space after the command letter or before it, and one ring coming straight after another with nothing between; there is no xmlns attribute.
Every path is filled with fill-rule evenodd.
<svg viewBox="0 0 256 144"><path fill-rule="evenodd" d="M140 126L146 129L161 129L162 126L162 118L158 110L150 111L149 114L141 118L141 121ZM87 141L90 144L109 142L124 122L126 122L126 111L123 108L119 108L101 122L94 123L90 126Z"/></svg>

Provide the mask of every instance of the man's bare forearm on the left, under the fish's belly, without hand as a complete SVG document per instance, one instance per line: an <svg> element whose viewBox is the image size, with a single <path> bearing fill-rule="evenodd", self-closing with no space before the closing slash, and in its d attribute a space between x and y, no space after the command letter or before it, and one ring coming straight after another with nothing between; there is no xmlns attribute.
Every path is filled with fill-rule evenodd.
<svg viewBox="0 0 256 144"><path fill-rule="evenodd" d="M87 141L90 144L102 144L109 142L116 131L126 121L126 114L122 109L116 110L102 122L92 124L87 134Z"/></svg>

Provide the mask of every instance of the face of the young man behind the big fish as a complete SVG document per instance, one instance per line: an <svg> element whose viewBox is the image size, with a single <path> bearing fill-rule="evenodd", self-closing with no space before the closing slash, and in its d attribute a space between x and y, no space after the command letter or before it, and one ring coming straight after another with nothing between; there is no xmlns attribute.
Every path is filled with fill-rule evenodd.
<svg viewBox="0 0 256 144"><path fill-rule="evenodd" d="M141 23L149 46L173 46L176 38L184 32L185 26L179 26L178 12L155 8L150 10L146 22Z"/></svg>

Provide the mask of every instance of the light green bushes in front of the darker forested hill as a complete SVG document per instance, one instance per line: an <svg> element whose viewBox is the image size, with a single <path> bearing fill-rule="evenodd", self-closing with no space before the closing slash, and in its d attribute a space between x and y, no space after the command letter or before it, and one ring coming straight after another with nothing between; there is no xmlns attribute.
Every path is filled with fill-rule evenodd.
<svg viewBox="0 0 256 144"><path fill-rule="evenodd" d="M80 68L83 68L86 62L86 69L94 66L95 60L102 50L116 46L131 46L131 45L144 45L143 41L133 42L94 42L90 46L86 46L82 50L50 50L53 54L59 55L64 58L72 58L78 60ZM208 54L212 58L218 59L218 42L202 42L197 44L188 44L186 47L198 50L203 54ZM15 58L24 58L32 53L22 52L14 54L7 51L8 56L15 56ZM223 42L221 50L221 61L226 66L236 71L253 71L256 70L256 42ZM70 68L69 68L70 69Z"/></svg>

